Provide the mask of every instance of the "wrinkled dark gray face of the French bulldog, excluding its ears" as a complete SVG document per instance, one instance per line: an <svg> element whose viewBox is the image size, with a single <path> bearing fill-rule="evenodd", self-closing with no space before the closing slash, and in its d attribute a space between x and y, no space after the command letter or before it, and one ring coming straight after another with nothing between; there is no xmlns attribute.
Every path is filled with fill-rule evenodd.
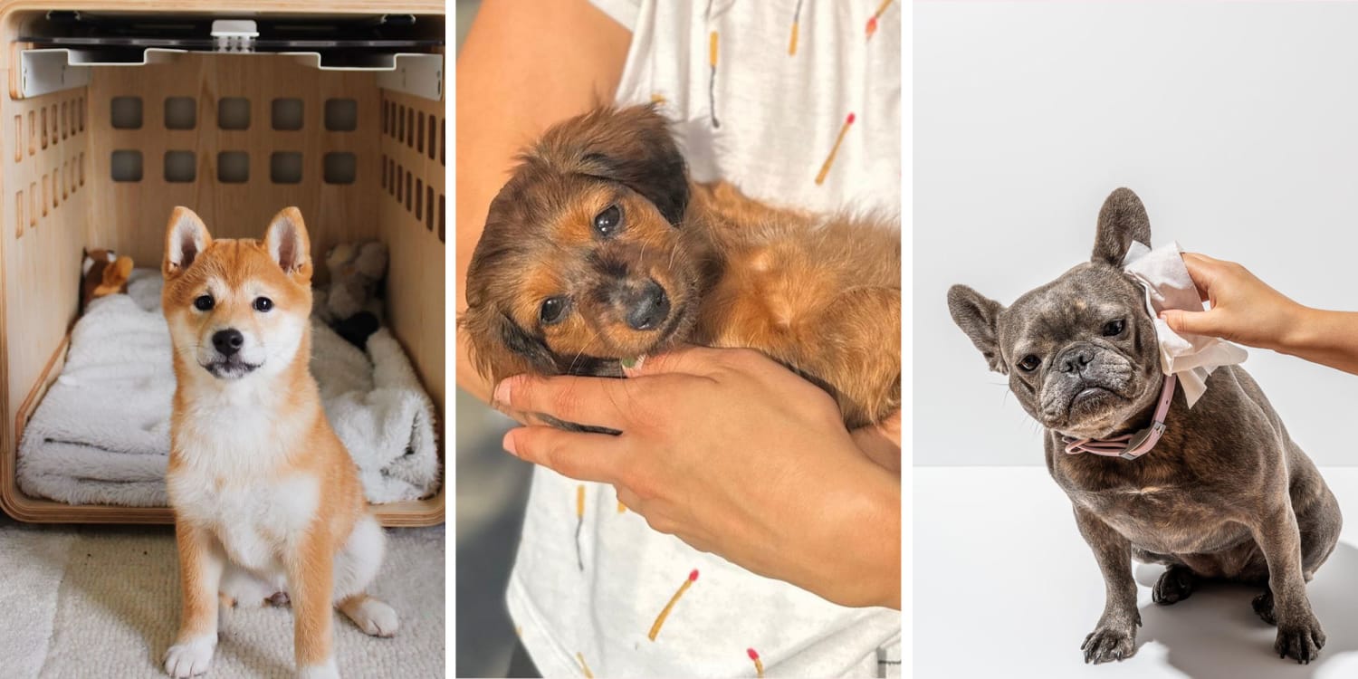
<svg viewBox="0 0 1358 679"><path fill-rule="evenodd" d="M1048 429L1108 436L1160 392L1143 292L1112 266L1076 266L1019 297L997 320L1009 388Z"/></svg>

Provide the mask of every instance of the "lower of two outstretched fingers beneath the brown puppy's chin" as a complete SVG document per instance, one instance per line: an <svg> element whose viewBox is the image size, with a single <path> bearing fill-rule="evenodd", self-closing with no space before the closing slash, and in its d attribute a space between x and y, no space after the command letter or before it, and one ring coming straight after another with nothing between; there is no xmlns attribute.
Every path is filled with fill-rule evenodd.
<svg viewBox="0 0 1358 679"><path fill-rule="evenodd" d="M553 426L511 429L502 443L512 455L579 481L617 483L618 466L625 459L615 436Z"/></svg>

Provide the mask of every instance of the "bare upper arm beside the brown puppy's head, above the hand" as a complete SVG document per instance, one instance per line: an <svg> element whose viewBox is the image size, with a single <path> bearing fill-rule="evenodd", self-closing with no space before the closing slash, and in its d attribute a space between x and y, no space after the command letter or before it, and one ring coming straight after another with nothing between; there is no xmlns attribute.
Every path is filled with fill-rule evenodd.
<svg viewBox="0 0 1358 679"><path fill-rule="evenodd" d="M612 99L631 34L585 0L482 4L458 54L458 315L467 266L513 156L550 124ZM459 334L458 386L482 401L489 384Z"/></svg>

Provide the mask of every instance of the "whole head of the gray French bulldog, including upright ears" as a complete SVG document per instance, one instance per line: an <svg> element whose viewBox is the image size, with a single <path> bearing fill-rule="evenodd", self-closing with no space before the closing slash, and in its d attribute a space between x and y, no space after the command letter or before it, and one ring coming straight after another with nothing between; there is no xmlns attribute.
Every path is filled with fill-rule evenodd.
<svg viewBox="0 0 1358 679"><path fill-rule="evenodd" d="M953 320L1048 429L1103 439L1145 426L1162 376L1145 292L1122 272L1133 240L1149 246L1150 223L1141 200L1118 189L1089 262L1008 308L966 285L948 291Z"/></svg>

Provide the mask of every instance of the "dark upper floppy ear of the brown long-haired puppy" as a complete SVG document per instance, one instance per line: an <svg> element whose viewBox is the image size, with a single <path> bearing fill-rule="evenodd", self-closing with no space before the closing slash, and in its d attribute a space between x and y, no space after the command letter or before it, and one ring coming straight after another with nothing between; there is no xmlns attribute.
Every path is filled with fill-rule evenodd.
<svg viewBox="0 0 1358 679"><path fill-rule="evenodd" d="M570 148L576 147L576 148ZM689 172L669 121L655 106L598 109L543 137L543 147L579 153L580 172L637 191L678 225L689 208Z"/></svg>

